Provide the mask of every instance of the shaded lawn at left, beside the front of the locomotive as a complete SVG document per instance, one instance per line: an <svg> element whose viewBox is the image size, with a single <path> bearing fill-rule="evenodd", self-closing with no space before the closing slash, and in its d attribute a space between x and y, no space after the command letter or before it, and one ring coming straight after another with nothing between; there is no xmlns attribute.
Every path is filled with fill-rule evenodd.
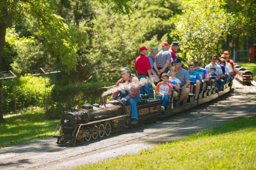
<svg viewBox="0 0 256 170"><path fill-rule="evenodd" d="M34 141L53 135L59 120L47 120L43 108L30 107L20 113L4 116L0 124L0 148Z"/></svg>

